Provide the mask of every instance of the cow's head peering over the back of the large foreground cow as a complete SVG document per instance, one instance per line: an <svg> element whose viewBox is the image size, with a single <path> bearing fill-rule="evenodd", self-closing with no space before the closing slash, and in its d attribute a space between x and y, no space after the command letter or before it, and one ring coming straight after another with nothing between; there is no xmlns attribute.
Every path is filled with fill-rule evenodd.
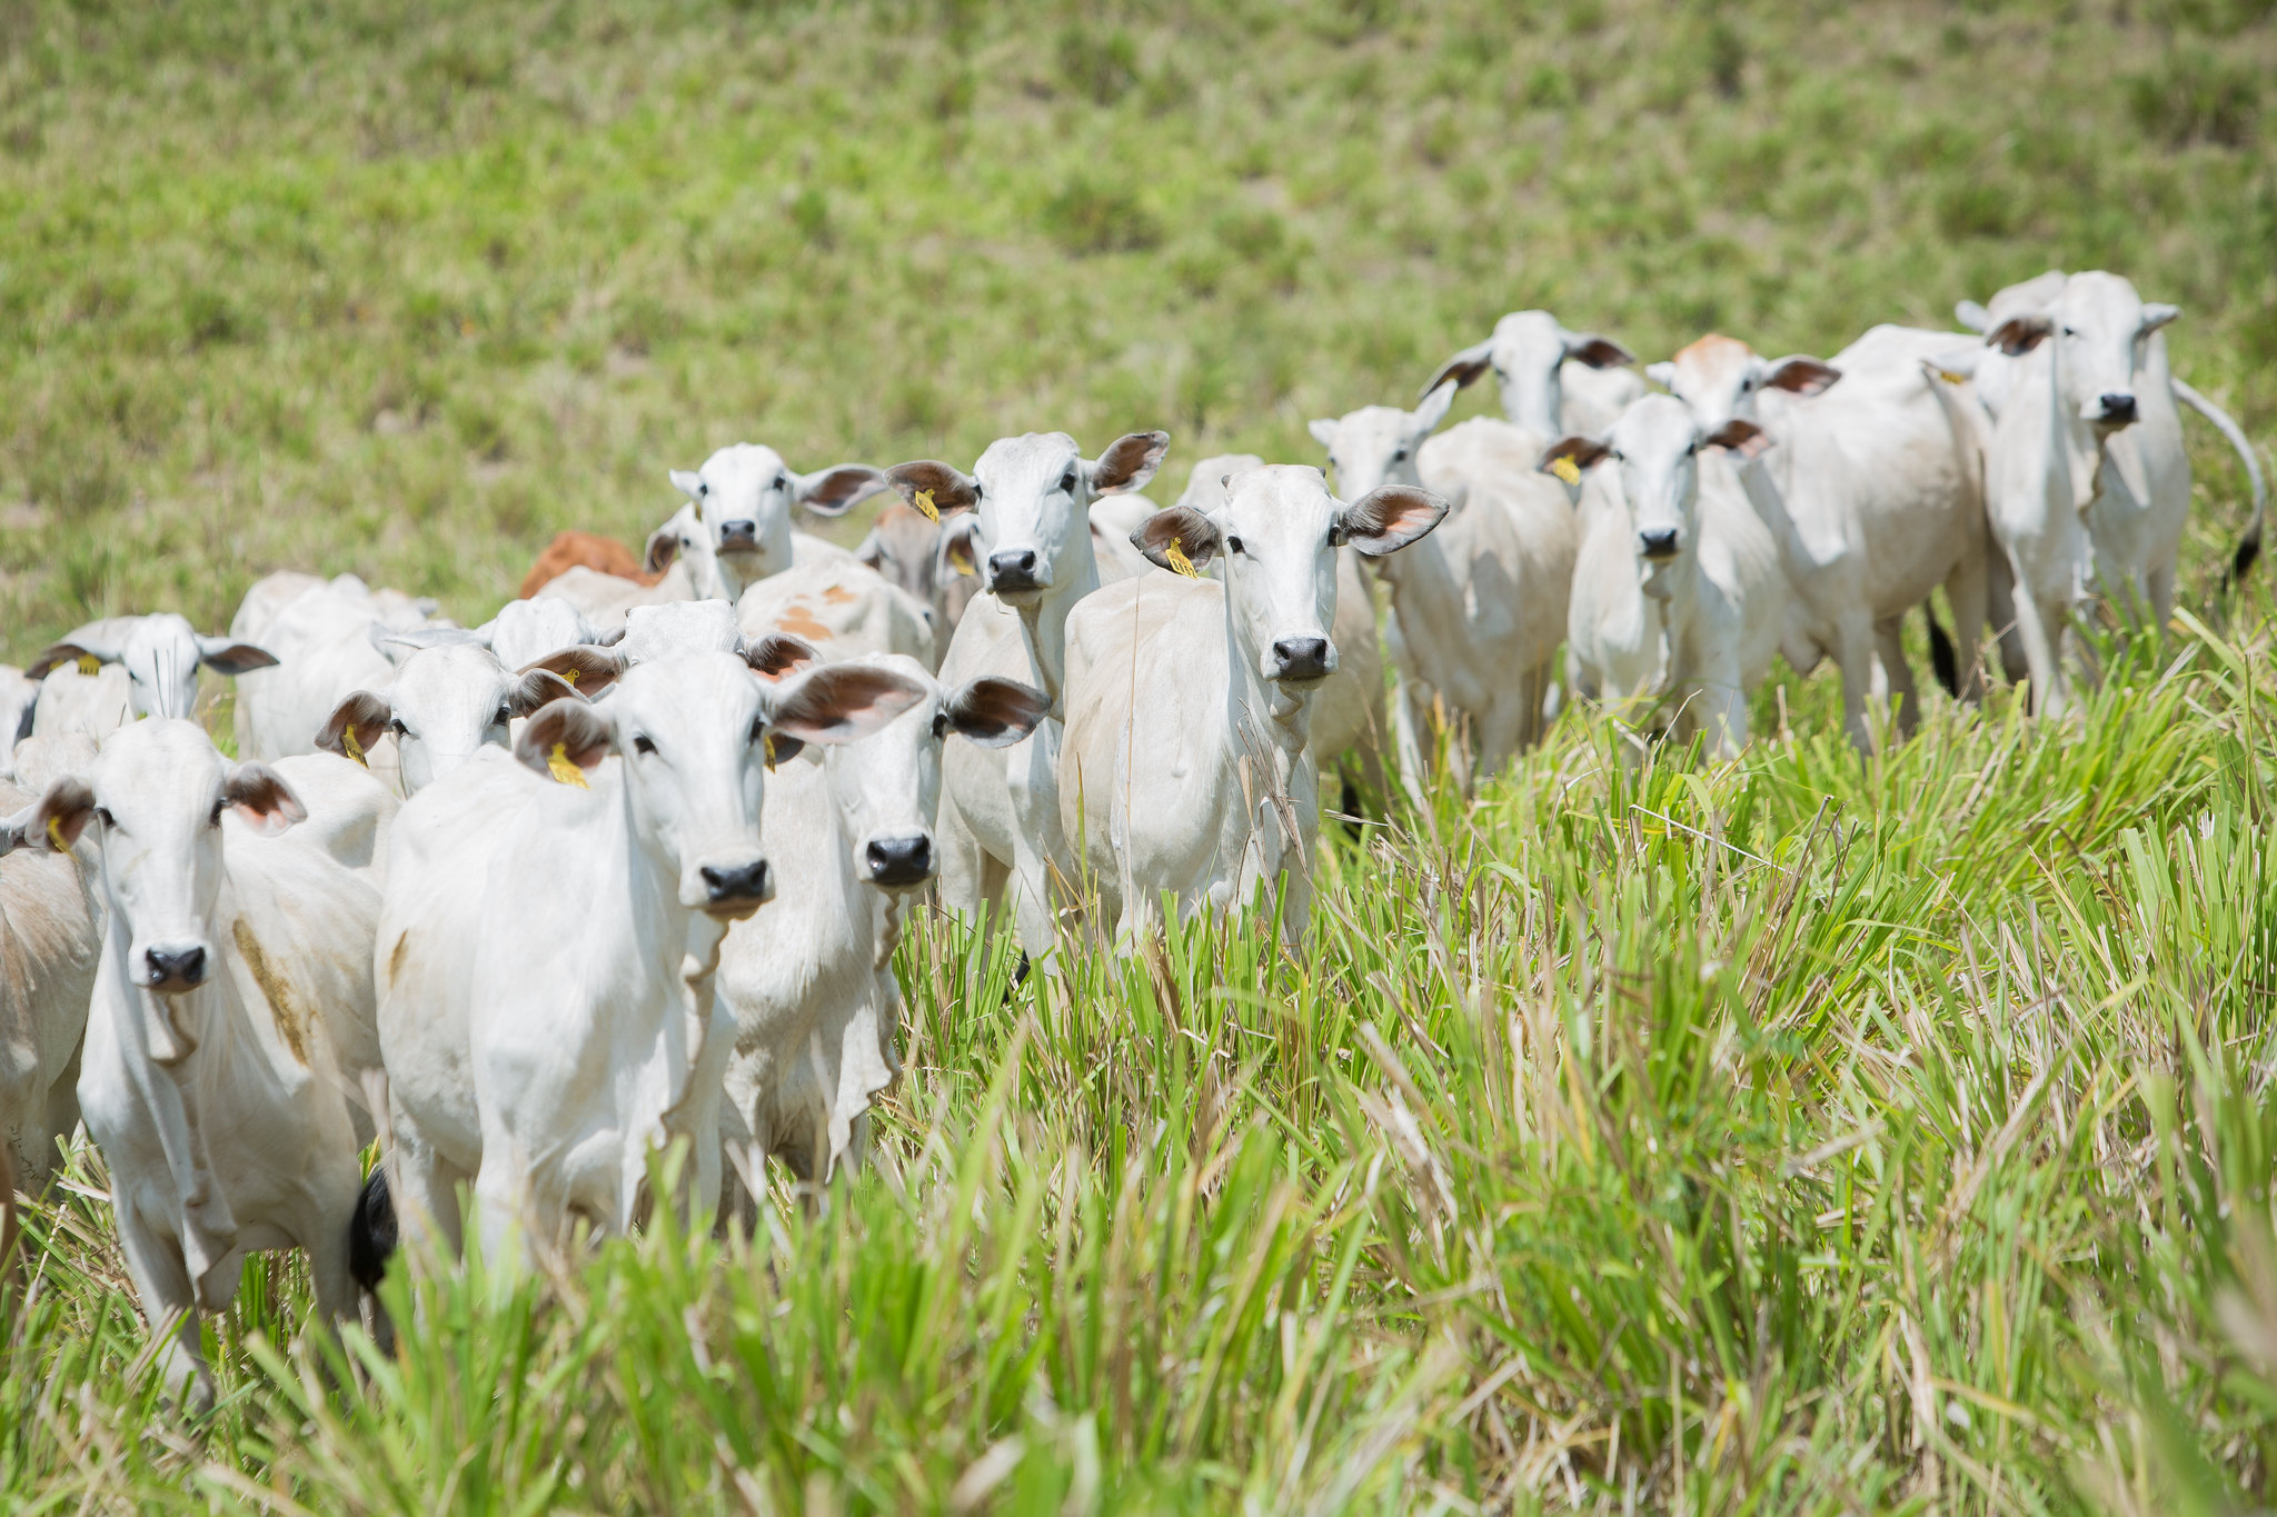
<svg viewBox="0 0 2277 1517"><path fill-rule="evenodd" d="M528 669L508 669L474 632L437 628L383 639L394 660L385 689L357 689L326 716L317 748L364 762L392 737L403 794L451 773L485 744L505 746L508 723L546 701L597 694L613 675L601 650L562 648ZM567 673L576 673L576 682Z"/></svg>

